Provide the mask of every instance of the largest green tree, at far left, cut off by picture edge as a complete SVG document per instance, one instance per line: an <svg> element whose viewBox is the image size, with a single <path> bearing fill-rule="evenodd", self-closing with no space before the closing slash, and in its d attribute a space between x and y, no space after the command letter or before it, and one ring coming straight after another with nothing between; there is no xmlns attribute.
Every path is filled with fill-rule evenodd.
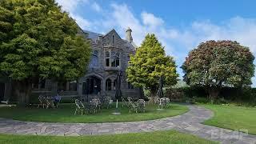
<svg viewBox="0 0 256 144"><path fill-rule="evenodd" d="M1 0L0 30L0 74L21 103L34 78L74 80L86 70L90 43L54 0Z"/></svg>

